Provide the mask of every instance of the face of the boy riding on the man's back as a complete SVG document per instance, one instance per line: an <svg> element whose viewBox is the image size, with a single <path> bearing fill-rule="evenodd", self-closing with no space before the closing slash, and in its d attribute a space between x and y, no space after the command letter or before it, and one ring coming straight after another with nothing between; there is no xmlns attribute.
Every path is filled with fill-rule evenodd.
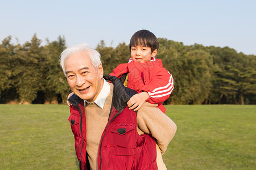
<svg viewBox="0 0 256 170"><path fill-rule="evenodd" d="M131 46L131 59L133 59L134 62L148 62L151 60L151 57L156 56L157 52L158 50L155 49L151 53L150 47L144 47L141 45Z"/></svg>

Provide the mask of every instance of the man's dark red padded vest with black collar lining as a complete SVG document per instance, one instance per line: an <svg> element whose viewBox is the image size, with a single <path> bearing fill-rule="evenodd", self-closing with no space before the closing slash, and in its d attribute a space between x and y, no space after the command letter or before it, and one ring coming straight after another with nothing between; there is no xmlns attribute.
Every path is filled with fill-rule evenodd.
<svg viewBox="0 0 256 170"><path fill-rule="evenodd" d="M113 82L114 90L112 110L98 150L98 169L157 169L155 140L149 134L138 134L137 113L126 107L127 101L136 92L124 87L114 76L104 78ZM89 169L84 101L76 95L68 100L73 104L69 122L75 137L80 169Z"/></svg>

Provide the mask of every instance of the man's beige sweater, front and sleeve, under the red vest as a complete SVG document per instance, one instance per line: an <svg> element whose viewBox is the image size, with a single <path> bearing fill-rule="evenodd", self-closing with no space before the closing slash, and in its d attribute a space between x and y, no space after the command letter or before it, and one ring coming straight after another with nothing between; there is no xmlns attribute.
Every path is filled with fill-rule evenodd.
<svg viewBox="0 0 256 170"><path fill-rule="evenodd" d="M110 93L106 98L104 108L101 109L96 104L86 104L86 152L88 153L91 169L97 169L98 146L100 144L101 134L103 133L112 104L113 84L110 84ZM176 132L176 125L166 116L160 109L156 108L157 104L145 102L137 115L137 131L141 135L143 133L152 134L160 147L163 154L171 139ZM158 158L159 160L159 153ZM162 160L162 158L160 158ZM160 164L160 162L157 162Z"/></svg>

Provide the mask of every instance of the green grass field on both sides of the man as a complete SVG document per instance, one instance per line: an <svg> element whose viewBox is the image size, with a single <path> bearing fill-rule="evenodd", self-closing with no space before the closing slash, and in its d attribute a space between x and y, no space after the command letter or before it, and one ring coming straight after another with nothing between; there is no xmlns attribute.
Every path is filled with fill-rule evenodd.
<svg viewBox="0 0 256 170"><path fill-rule="evenodd" d="M256 105L168 105L167 169L255 169ZM77 169L67 105L0 104L0 169Z"/></svg>

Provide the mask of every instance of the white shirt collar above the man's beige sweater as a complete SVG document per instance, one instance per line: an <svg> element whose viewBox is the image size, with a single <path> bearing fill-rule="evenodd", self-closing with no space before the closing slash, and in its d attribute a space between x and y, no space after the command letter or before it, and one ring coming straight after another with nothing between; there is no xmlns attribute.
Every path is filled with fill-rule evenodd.
<svg viewBox="0 0 256 170"><path fill-rule="evenodd" d="M101 109L103 109L104 104L105 104L105 100L106 97L108 97L110 92L110 86L109 83L106 82L106 80L104 79L104 83L103 83L103 87L101 89L100 94L98 94L97 98L92 102L98 105L98 107L100 107ZM84 100L86 103L91 103L87 100Z"/></svg>

